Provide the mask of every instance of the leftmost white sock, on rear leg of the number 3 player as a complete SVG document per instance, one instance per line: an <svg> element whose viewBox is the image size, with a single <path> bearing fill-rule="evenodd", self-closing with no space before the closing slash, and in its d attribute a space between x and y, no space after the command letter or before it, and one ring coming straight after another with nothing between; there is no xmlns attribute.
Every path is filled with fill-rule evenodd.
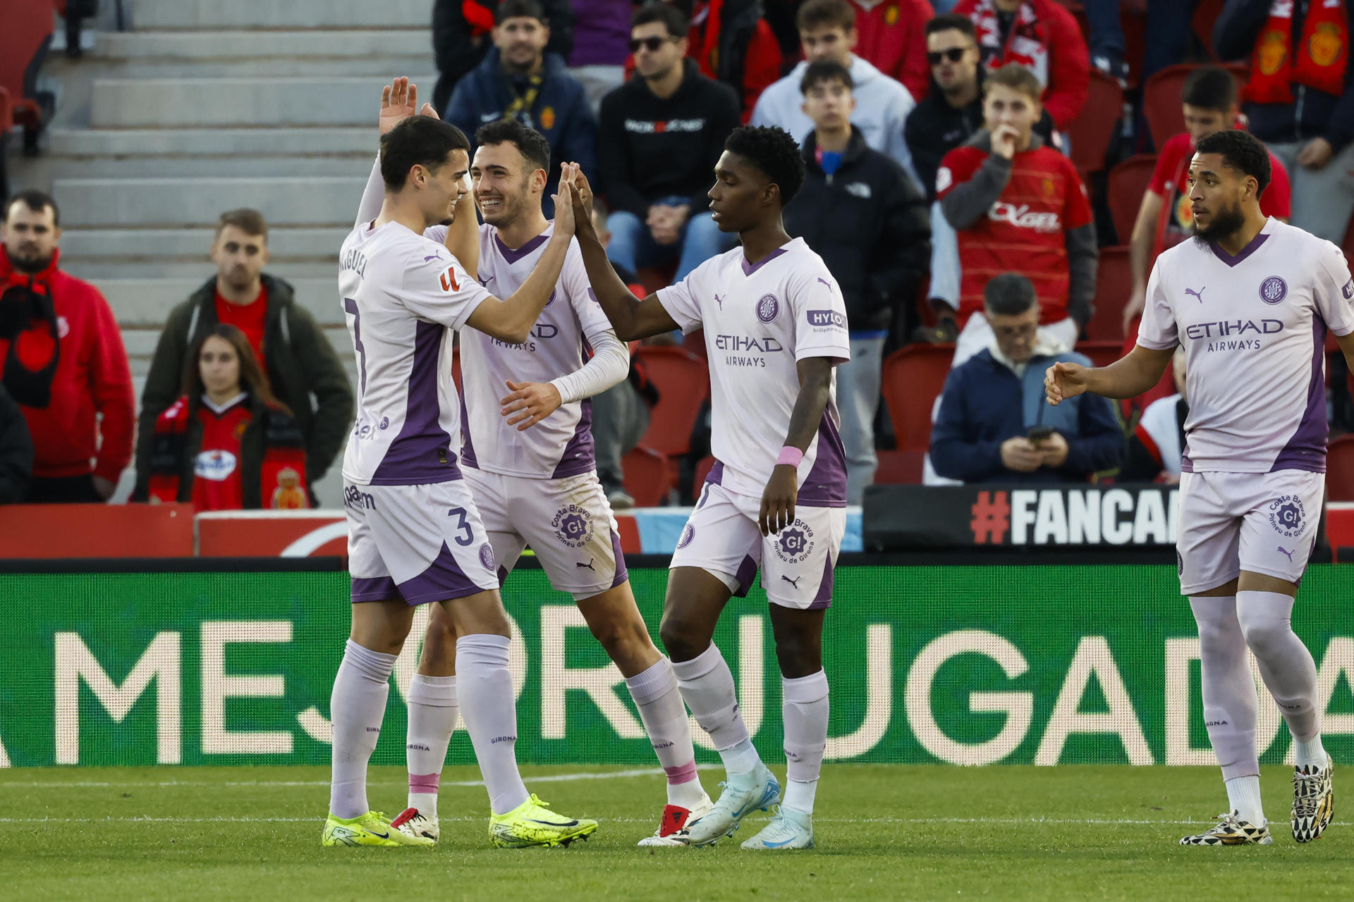
<svg viewBox="0 0 1354 902"><path fill-rule="evenodd" d="M334 817L348 820L371 810L367 805L367 761L380 738L394 669L394 655L372 652L348 640L329 695L329 717L333 719L329 813Z"/></svg>

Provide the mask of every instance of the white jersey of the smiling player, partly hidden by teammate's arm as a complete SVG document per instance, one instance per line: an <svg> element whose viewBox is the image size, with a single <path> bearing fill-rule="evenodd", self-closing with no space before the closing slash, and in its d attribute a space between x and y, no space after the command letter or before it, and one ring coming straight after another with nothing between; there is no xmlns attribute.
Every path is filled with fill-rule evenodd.
<svg viewBox="0 0 1354 902"><path fill-rule="evenodd" d="M555 234L551 222L517 250L498 238L493 226L479 226L479 280L496 298L510 298L536 268ZM433 226L424 235L445 241L447 230ZM592 400L561 404L528 430L509 426L500 400L510 394L506 381L548 383L581 368L586 350L611 334L578 242L569 243L559 283L546 303L531 337L520 345L492 338L475 329L460 333L460 387L464 392L460 460L466 467L529 479L577 476L596 469L592 438ZM478 453L477 453L478 449Z"/></svg>

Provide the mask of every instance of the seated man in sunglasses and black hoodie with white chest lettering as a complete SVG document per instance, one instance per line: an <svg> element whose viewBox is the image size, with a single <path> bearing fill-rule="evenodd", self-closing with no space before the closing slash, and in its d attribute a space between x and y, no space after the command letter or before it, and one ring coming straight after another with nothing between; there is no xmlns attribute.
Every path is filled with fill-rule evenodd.
<svg viewBox="0 0 1354 902"><path fill-rule="evenodd" d="M678 260L677 280L731 245L709 218L709 173L738 127L738 97L685 60L688 22L655 0L635 14L635 77L601 101L608 256L631 272Z"/></svg>

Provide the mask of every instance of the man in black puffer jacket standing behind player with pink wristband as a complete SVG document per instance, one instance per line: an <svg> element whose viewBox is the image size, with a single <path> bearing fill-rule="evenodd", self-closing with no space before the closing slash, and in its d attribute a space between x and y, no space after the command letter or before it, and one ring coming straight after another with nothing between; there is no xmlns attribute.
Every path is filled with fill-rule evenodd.
<svg viewBox="0 0 1354 902"><path fill-rule="evenodd" d="M846 448L846 503L875 481L875 411L884 341L895 310L914 308L930 261L926 199L894 160L865 145L850 123L850 72L814 62L800 92L814 131L803 142L806 179L785 208L785 231L823 258L842 291L850 361L837 368ZM907 329L910 331L910 329Z"/></svg>

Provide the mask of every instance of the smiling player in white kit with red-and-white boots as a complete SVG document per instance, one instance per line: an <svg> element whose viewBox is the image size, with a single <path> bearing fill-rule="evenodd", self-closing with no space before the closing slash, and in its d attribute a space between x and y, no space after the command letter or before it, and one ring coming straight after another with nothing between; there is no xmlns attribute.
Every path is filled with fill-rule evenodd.
<svg viewBox="0 0 1354 902"><path fill-rule="evenodd" d="M478 277L508 293L529 277L555 229L540 207L550 145L539 131L505 119L482 126L475 147L470 179L485 219ZM445 226L433 226L425 235L441 242ZM573 595L626 678L668 776L659 826L640 845L685 845L682 828L708 811L711 802L696 774L677 678L654 648L630 588L589 431L589 399L626 379L628 369L630 353L593 300L573 245L527 341L460 333L460 462L500 577L506 579L531 545L550 584ZM409 687L409 807L394 820L398 829L433 840L439 836L439 775L456 725L455 664L456 630L450 617L433 609Z"/></svg>

